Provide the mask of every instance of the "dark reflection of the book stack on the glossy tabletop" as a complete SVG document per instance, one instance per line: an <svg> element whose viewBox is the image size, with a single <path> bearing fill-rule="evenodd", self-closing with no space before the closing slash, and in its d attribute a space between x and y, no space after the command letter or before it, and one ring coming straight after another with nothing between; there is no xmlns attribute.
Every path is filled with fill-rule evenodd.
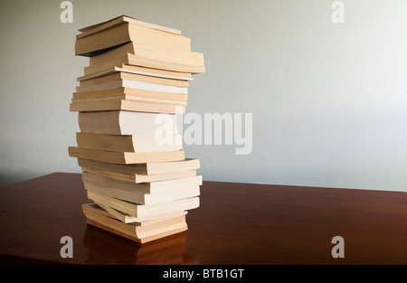
<svg viewBox="0 0 407 283"><path fill-rule="evenodd" d="M114 233L87 225L83 244L89 250L86 262L92 264L187 265L199 260L186 250L187 231L138 244Z"/></svg>

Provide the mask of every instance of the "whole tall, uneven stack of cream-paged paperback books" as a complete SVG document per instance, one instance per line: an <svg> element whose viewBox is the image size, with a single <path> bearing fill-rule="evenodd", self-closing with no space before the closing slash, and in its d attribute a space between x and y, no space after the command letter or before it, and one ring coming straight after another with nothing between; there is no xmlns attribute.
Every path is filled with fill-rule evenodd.
<svg viewBox="0 0 407 283"><path fill-rule="evenodd" d="M199 160L185 158L175 114L185 112L192 74L204 72L190 45L178 30L128 16L77 35L75 53L90 65L71 101L80 132L69 154L93 201L82 204L89 224L137 242L187 230L202 176Z"/></svg>

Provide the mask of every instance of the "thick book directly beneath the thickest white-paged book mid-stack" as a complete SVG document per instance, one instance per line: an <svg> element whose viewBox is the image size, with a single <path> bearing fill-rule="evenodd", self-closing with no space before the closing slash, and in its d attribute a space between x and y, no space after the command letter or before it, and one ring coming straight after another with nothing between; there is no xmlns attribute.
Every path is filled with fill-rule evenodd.
<svg viewBox="0 0 407 283"><path fill-rule="evenodd" d="M182 136L166 137L166 144L160 143L155 136L123 136L97 133L77 133L78 147L118 152L166 152L183 149Z"/></svg>

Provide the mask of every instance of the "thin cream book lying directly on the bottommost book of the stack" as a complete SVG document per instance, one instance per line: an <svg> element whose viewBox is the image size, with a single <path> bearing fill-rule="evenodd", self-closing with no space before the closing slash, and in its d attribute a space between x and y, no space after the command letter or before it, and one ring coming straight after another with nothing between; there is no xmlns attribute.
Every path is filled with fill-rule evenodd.
<svg viewBox="0 0 407 283"><path fill-rule="evenodd" d="M120 222L133 223L134 225L137 225L137 226L148 226L151 224L156 224L157 222L163 222L163 221L166 221L169 219L174 219L176 217L186 215L186 213L187 213L184 211L171 212L171 213L166 213L163 215L158 215L158 216L152 217L152 218L140 219L140 218L128 215L126 213L119 212L107 205L100 204L100 203L82 204L82 210L83 210L83 212L99 213L101 215L117 219Z"/></svg>

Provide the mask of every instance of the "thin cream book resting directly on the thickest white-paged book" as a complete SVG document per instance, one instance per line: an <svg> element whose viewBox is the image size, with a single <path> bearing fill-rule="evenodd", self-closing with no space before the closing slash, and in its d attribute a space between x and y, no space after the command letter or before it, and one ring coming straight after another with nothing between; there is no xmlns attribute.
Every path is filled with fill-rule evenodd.
<svg viewBox="0 0 407 283"><path fill-rule="evenodd" d="M185 106L163 103L149 103L123 99L72 102L71 112L95 112L110 110L139 111L149 113L184 114Z"/></svg>

